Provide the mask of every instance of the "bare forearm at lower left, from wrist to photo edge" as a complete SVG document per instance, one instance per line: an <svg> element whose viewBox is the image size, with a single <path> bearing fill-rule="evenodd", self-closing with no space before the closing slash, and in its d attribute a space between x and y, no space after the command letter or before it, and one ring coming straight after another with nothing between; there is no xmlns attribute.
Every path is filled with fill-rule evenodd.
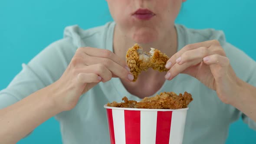
<svg viewBox="0 0 256 144"><path fill-rule="evenodd" d="M0 143L15 144L47 119L58 114L50 98L49 88L43 88L23 100L0 110Z"/></svg>

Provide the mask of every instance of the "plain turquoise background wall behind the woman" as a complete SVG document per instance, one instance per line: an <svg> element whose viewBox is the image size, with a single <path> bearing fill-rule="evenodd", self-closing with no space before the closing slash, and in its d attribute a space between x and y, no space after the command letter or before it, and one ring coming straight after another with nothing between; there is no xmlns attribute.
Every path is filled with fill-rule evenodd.
<svg viewBox="0 0 256 144"><path fill-rule="evenodd" d="M188 0L177 23L189 28L215 28L256 59L255 0ZM112 20L105 0L0 0L0 89L5 88L66 26L84 29ZM255 144L256 132L241 120L231 124L226 144ZM59 124L51 118L18 144L61 144Z"/></svg>

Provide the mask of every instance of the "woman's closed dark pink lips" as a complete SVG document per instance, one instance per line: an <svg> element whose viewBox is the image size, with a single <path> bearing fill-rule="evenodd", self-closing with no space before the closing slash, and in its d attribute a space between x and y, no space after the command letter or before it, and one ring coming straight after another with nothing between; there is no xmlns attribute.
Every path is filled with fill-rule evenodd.
<svg viewBox="0 0 256 144"><path fill-rule="evenodd" d="M139 20L150 20L152 17L155 16L155 14L148 9L138 9L135 11L135 13L132 14L132 16Z"/></svg>

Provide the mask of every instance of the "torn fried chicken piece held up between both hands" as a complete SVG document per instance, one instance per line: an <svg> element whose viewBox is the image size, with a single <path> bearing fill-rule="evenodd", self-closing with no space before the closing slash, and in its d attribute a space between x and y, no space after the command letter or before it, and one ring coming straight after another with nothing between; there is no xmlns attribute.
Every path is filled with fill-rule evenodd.
<svg viewBox="0 0 256 144"><path fill-rule="evenodd" d="M135 44L126 52L126 63L134 76L133 82L138 79L141 71L146 71L149 68L160 72L168 71L165 68L168 59L169 57L158 49L151 48L150 52L143 52L143 49L138 44Z"/></svg>

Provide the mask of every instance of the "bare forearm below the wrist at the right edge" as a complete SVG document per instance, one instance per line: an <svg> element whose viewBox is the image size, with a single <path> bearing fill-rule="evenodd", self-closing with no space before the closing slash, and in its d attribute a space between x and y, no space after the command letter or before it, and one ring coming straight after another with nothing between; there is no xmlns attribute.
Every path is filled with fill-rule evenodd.
<svg viewBox="0 0 256 144"><path fill-rule="evenodd" d="M256 87L240 80L232 104L246 116L256 121Z"/></svg>

